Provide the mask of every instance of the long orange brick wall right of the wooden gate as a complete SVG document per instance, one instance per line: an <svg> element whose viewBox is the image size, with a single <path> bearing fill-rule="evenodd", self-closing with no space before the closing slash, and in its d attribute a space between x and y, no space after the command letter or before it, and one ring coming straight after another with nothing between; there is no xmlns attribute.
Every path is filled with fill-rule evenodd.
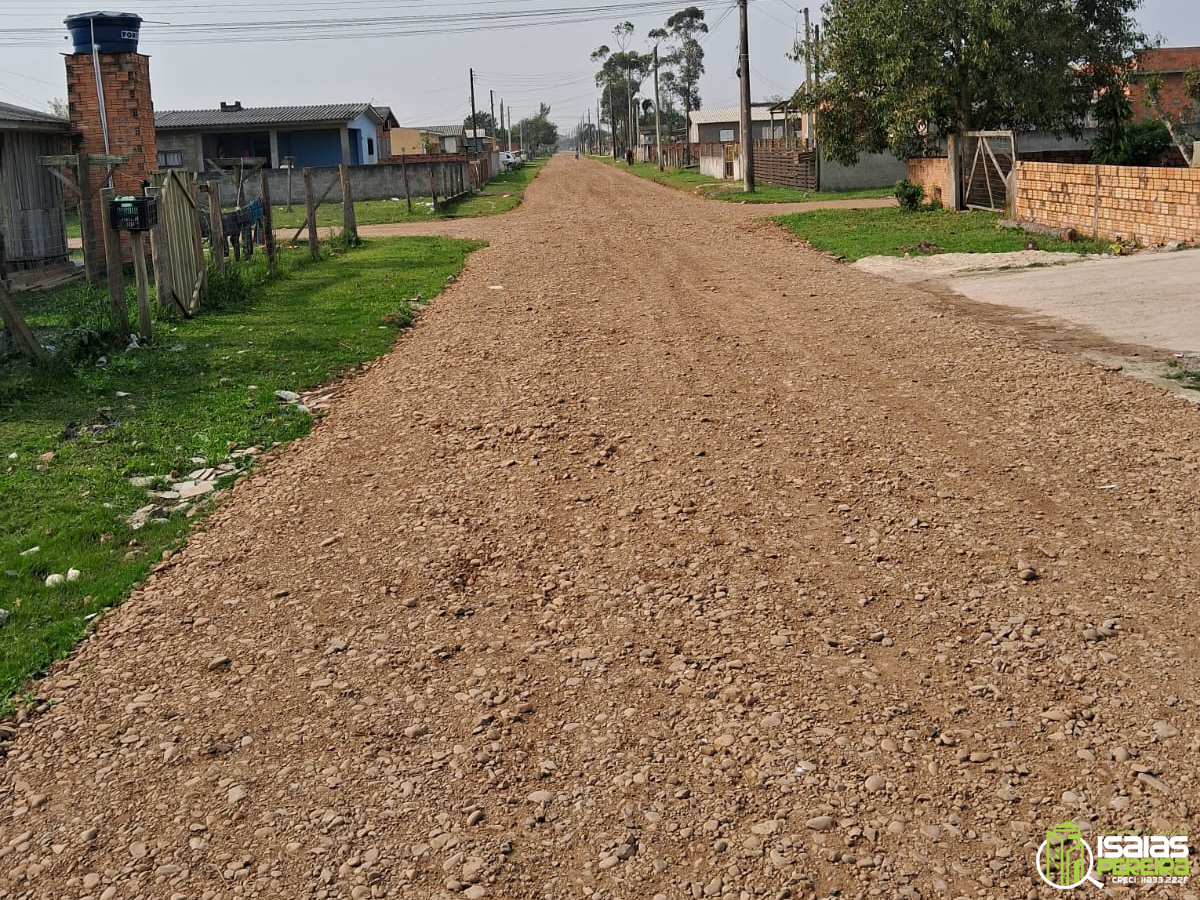
<svg viewBox="0 0 1200 900"><path fill-rule="evenodd" d="M1020 161L1016 217L1146 246L1200 241L1200 168Z"/></svg>

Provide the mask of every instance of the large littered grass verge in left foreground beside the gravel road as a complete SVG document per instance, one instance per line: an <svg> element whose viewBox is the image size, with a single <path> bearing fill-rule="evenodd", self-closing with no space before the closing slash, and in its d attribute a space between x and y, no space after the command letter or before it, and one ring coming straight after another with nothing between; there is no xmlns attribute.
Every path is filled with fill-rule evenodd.
<svg viewBox="0 0 1200 900"><path fill-rule="evenodd" d="M385 353L410 320L403 298L434 296L476 246L371 241L317 264L296 251L271 281L258 256L235 266L229 299L196 319L156 323L150 349L41 371L0 359L0 607L8 612L0 712L196 521L178 511L132 529L126 518L148 498L131 476L186 474L233 448L306 434L311 416L275 391L305 390ZM47 576L72 568L77 581L46 587Z"/></svg>

